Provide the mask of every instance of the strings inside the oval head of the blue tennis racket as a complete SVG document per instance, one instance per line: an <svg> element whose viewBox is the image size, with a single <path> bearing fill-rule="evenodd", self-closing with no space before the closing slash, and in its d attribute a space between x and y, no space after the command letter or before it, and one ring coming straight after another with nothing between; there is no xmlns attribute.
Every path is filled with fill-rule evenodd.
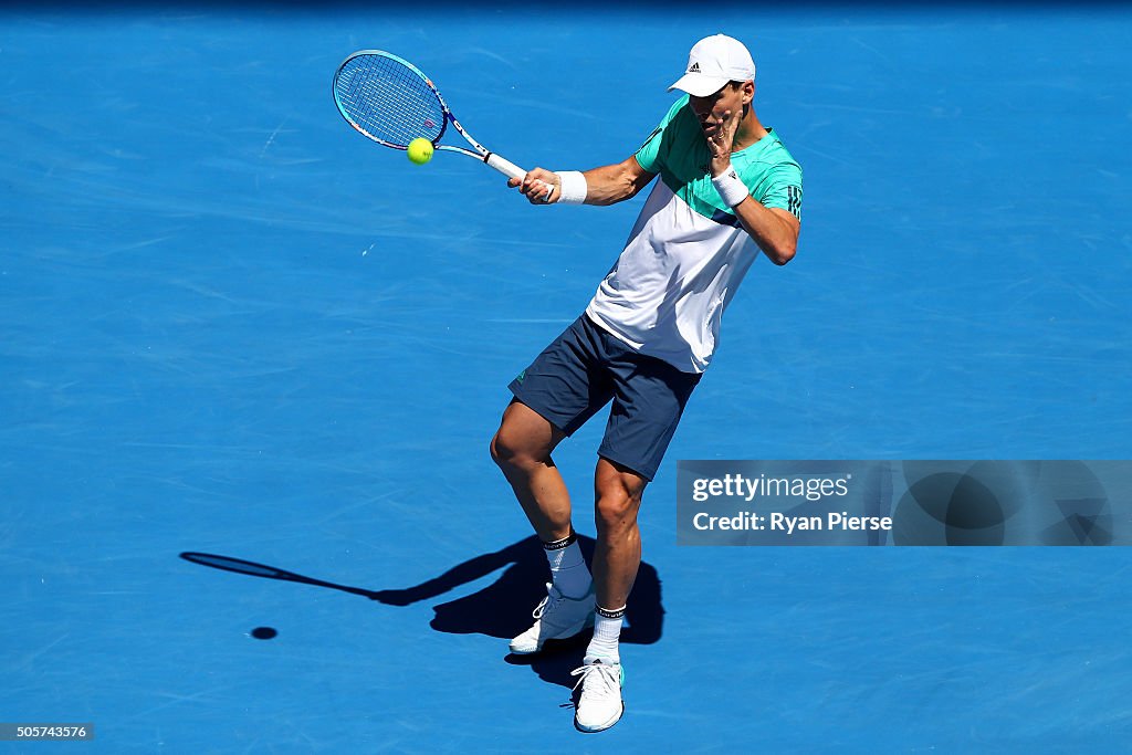
<svg viewBox="0 0 1132 755"><path fill-rule="evenodd" d="M444 132L440 98L421 76L385 55L358 55L335 80L343 112L368 136L396 147Z"/></svg>

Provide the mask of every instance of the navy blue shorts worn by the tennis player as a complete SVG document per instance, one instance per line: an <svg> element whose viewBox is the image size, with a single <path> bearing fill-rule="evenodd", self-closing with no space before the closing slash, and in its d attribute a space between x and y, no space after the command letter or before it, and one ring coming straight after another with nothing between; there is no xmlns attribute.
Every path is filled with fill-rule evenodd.
<svg viewBox="0 0 1132 755"><path fill-rule="evenodd" d="M566 435L612 401L598 455L651 481L701 377L635 352L583 315L508 387Z"/></svg>

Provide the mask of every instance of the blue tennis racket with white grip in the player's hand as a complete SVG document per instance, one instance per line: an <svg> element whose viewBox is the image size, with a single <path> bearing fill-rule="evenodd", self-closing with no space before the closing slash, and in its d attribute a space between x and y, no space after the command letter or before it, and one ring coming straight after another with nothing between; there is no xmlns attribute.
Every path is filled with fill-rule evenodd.
<svg viewBox="0 0 1132 755"><path fill-rule="evenodd" d="M359 134L394 149L424 138L434 149L475 157L508 178L522 179L526 171L473 139L455 119L429 77L408 60L381 50L361 50L334 74L334 103ZM452 125L472 149L440 139Z"/></svg>

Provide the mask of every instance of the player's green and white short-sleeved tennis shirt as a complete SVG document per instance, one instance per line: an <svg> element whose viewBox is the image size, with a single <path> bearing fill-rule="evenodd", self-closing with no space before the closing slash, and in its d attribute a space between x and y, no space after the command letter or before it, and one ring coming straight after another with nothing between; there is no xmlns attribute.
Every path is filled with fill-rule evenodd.
<svg viewBox="0 0 1132 755"><path fill-rule="evenodd" d="M687 96L668 111L636 161L661 180L585 312L634 350L703 372L723 310L758 247L712 186L711 154ZM758 203L801 218L801 168L778 135L734 153L731 165Z"/></svg>

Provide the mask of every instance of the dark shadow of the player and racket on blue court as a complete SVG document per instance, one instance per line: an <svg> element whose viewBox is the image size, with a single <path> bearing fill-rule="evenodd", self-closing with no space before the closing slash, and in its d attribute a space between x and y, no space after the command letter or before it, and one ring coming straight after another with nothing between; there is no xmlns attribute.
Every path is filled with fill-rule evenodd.
<svg viewBox="0 0 1132 755"><path fill-rule="evenodd" d="M592 563L593 539L578 535L578 544L586 561ZM446 634L482 634L496 637L500 641L500 650L504 652L507 650L507 641L533 624L531 611L546 598L546 583L549 580L547 557L538 538L534 537L457 564L418 585L395 590L368 590L335 584L215 554L186 551L180 556L194 564L225 572L328 587L361 595L386 606L401 607L438 598L503 569L494 583L478 592L434 606L436 616L429 626ZM633 586L633 595L625 610L626 626L621 632L621 642L649 645L659 641L663 617L664 609L661 604L657 569L642 561ZM589 637L590 632L586 630L569 641L547 643L542 652L537 655L507 654L505 660L513 666L530 667L546 681L573 687L575 679L569 672L582 664Z"/></svg>

